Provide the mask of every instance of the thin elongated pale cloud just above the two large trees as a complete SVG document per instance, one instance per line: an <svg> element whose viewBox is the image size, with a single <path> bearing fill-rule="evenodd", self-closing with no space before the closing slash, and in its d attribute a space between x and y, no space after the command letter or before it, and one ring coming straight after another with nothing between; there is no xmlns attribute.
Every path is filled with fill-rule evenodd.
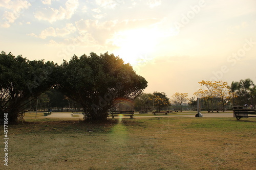
<svg viewBox="0 0 256 170"><path fill-rule="evenodd" d="M42 30L39 35L36 35L34 33L30 33L28 35L41 38L41 39L46 39L47 37L63 37L66 35L69 35L73 32L76 31L76 28L74 27L73 23L67 23L65 28L56 28L54 29L53 27L49 27L45 30Z"/></svg>

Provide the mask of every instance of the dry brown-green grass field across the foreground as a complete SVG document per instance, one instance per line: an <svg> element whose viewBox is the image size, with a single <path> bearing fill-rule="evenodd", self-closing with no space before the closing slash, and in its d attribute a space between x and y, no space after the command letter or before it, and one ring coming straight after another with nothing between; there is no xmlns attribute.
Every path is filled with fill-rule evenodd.
<svg viewBox="0 0 256 170"><path fill-rule="evenodd" d="M39 119L8 127L0 169L255 169L255 118Z"/></svg>

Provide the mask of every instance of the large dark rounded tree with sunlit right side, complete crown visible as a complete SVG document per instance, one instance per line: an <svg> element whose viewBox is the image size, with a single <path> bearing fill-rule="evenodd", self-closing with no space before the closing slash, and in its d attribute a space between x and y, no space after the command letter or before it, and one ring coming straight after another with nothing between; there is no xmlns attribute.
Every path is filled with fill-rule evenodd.
<svg viewBox="0 0 256 170"><path fill-rule="evenodd" d="M134 100L147 87L130 64L108 53L73 56L58 71L57 88L80 103L90 120L105 120L115 101Z"/></svg>

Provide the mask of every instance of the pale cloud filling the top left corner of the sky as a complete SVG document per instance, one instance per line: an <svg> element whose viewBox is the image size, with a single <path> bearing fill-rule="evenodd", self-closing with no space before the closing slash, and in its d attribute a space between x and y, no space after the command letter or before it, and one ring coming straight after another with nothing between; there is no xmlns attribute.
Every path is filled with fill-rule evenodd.
<svg viewBox="0 0 256 170"><path fill-rule="evenodd" d="M3 14L4 23L1 26L4 28L10 27L10 23L13 23L17 18L19 18L20 15L22 15L24 11L28 9L30 6L31 4L28 1L24 0L4 0L0 2L0 7L5 8L5 12Z"/></svg>

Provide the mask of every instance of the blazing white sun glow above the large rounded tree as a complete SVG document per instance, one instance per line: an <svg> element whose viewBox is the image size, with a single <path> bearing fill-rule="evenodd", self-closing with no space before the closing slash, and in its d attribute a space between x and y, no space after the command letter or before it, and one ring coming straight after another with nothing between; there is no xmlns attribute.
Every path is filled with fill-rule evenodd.
<svg viewBox="0 0 256 170"><path fill-rule="evenodd" d="M157 36L152 29L126 30L115 33L112 44L117 46L114 54L132 65L150 55L156 46Z"/></svg>

